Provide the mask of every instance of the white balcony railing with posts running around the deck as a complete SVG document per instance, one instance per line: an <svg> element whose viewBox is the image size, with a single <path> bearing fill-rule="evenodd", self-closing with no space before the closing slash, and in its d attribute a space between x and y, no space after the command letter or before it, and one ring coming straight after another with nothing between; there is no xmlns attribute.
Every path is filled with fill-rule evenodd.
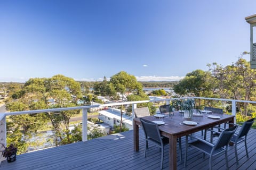
<svg viewBox="0 0 256 170"><path fill-rule="evenodd" d="M0 143L3 143L3 145L6 146L6 116L10 116L10 115L35 114L35 113L58 112L58 111L69 111L69 110L74 110L74 109L82 109L82 111L83 111L83 120L82 120L82 122L83 122L83 124L82 124L82 135L83 135L83 137L82 137L82 140L87 141L87 111L90 108L94 108L94 107L102 107L103 108L103 107L109 107L109 106L132 105L132 110L133 110L134 108L137 108L137 104L140 104L140 103L166 101L167 104L170 104L171 100L186 99L186 98L229 101L229 102L231 102L232 115L236 115L236 103L253 103L253 104L256 104L256 101L248 101L248 100L231 100L231 99L205 98L205 97L183 97L183 98L171 98L171 99L128 101L128 102L124 102L124 103L111 103L111 104L92 105L92 106L41 109L41 110L34 110L34 111L6 112L6 113L0 113ZM134 117L134 113L132 113L132 116ZM3 147L0 148L0 150L3 150ZM0 162L1 162L1 160L3 160L2 157L0 157Z"/></svg>

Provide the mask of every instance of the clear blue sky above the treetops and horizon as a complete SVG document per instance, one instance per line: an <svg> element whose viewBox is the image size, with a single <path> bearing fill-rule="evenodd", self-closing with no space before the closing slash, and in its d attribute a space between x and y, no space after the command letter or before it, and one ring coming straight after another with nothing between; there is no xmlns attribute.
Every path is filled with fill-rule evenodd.
<svg viewBox="0 0 256 170"><path fill-rule="evenodd" d="M250 52L252 0L0 0L0 82L177 80ZM249 55L243 56L249 60Z"/></svg>

